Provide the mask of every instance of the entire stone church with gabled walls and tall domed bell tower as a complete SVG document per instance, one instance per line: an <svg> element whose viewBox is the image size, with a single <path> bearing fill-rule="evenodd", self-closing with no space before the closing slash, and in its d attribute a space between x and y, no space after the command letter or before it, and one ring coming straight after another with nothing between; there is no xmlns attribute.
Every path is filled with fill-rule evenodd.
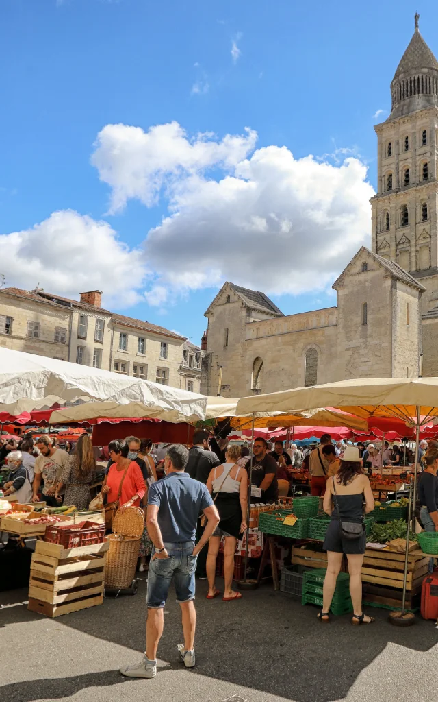
<svg viewBox="0 0 438 702"><path fill-rule="evenodd" d="M416 26L376 125L371 251L334 283L336 307L285 316L224 284L208 319L202 391L242 397L345 378L438 375L438 62Z"/></svg>

